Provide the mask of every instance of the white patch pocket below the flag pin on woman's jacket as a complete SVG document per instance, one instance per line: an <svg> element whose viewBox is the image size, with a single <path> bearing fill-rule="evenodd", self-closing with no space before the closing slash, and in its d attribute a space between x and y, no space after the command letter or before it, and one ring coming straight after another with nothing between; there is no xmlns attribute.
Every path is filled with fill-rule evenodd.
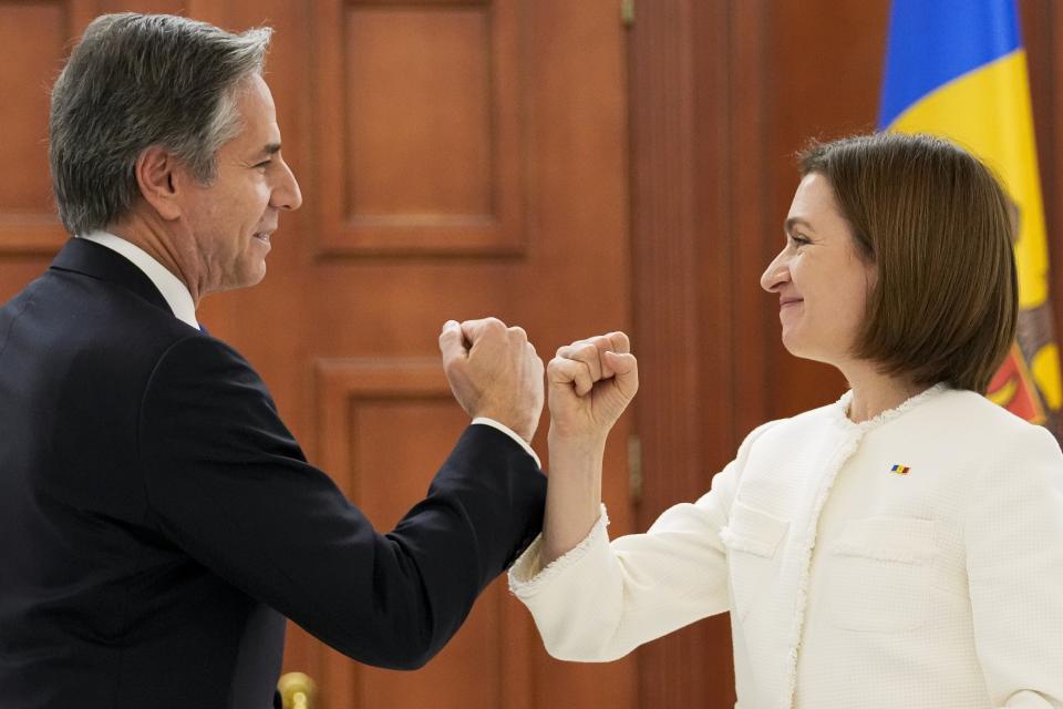
<svg viewBox="0 0 1063 709"><path fill-rule="evenodd" d="M834 624L865 633L904 633L926 625L933 555L932 521L849 521L827 557L825 596Z"/></svg>

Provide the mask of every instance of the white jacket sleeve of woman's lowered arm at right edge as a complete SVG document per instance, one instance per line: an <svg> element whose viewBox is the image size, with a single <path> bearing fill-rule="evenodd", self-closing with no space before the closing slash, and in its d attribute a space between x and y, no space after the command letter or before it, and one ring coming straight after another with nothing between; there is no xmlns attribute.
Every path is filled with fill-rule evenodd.
<svg viewBox="0 0 1063 709"><path fill-rule="evenodd" d="M1063 455L1035 427L1009 448L969 491L974 643L994 707L1063 707Z"/></svg>

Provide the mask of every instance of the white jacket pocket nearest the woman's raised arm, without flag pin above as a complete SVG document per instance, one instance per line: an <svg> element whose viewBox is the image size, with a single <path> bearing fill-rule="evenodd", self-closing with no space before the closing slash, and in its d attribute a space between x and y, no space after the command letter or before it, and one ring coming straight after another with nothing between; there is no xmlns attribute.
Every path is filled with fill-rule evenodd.
<svg viewBox="0 0 1063 709"><path fill-rule="evenodd" d="M778 547L789 522L735 501L720 541L727 548L731 606L744 620L778 573Z"/></svg>

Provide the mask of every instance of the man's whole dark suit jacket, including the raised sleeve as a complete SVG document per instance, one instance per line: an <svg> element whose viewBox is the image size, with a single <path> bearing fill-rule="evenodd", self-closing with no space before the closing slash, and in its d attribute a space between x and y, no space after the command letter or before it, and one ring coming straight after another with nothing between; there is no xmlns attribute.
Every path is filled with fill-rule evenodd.
<svg viewBox="0 0 1063 709"><path fill-rule="evenodd" d="M0 308L0 707L266 709L283 616L362 662L419 667L539 531L544 499L532 458L473 425L375 532L242 357L72 239Z"/></svg>

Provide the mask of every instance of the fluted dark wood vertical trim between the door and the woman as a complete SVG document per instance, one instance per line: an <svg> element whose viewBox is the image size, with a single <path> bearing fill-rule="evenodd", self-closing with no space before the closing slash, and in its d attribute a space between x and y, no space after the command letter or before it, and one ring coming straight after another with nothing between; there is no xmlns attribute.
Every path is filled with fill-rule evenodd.
<svg viewBox="0 0 1063 709"><path fill-rule="evenodd" d="M643 499L639 528L700 487L700 361L695 276L698 204L693 2L660 0L639 13L629 55L634 347L641 391ZM708 38L706 38L708 39ZM685 494L683 494L685 493ZM687 628L639 650L639 706L703 703L703 647Z"/></svg>

